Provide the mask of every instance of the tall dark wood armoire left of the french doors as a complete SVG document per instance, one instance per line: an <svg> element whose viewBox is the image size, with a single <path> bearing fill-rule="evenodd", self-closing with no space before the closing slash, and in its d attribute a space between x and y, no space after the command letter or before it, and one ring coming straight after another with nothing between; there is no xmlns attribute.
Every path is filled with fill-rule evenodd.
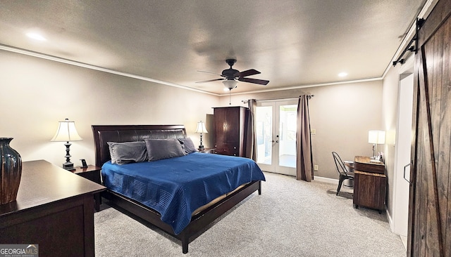
<svg viewBox="0 0 451 257"><path fill-rule="evenodd" d="M214 152L245 157L247 119L246 107L214 107Z"/></svg>

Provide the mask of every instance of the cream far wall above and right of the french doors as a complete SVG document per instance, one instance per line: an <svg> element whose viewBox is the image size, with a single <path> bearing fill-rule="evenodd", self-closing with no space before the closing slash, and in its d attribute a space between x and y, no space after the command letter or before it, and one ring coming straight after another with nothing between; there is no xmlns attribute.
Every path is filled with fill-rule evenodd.
<svg viewBox="0 0 451 257"><path fill-rule="evenodd" d="M232 95L232 106L247 106L242 100L297 98L304 93L315 95L309 101L314 164L319 165L315 176L337 178L332 151L343 160L356 155L371 156L368 131L383 129L382 81L367 81L333 86L316 86L289 91ZM221 106L229 105L229 96L221 96Z"/></svg>

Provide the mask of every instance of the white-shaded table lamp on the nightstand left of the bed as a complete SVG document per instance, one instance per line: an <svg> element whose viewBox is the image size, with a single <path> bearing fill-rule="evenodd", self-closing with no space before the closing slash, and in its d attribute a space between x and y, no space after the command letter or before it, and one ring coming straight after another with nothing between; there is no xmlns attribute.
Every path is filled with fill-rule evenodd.
<svg viewBox="0 0 451 257"><path fill-rule="evenodd" d="M65 119L64 121L58 121L58 129L56 130L54 138L51 138L51 141L54 142L66 142L66 162L63 163L63 168L68 171L73 171L75 168L73 167L73 163L70 162L70 154L69 147L72 145L69 143L70 141L79 141L83 140L78 133L77 129L75 129L75 121L69 121L69 119Z"/></svg>

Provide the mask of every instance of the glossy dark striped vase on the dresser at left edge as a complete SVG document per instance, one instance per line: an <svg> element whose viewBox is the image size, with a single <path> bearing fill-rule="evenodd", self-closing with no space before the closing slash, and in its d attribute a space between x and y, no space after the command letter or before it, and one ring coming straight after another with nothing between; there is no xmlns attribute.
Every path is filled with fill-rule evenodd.
<svg viewBox="0 0 451 257"><path fill-rule="evenodd" d="M1 204L16 201L20 176L22 176L22 158L16 150L9 146L11 140L13 138L0 138Z"/></svg>

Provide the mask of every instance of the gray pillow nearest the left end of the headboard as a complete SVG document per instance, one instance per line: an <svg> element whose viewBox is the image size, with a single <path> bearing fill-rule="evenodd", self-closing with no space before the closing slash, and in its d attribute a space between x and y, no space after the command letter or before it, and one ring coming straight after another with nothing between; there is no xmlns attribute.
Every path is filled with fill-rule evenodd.
<svg viewBox="0 0 451 257"><path fill-rule="evenodd" d="M147 149L144 141L137 142L107 142L110 149L112 164L129 164L130 162L146 162Z"/></svg>

